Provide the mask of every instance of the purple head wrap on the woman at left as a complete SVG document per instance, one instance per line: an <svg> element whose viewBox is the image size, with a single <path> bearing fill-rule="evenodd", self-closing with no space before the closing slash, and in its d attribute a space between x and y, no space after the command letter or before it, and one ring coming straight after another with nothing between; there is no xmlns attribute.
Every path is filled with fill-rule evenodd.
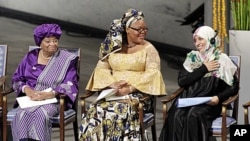
<svg viewBox="0 0 250 141"><path fill-rule="evenodd" d="M36 45L40 46L45 37L54 36L60 39L62 34L61 27L57 24L42 24L34 29L34 39Z"/></svg>

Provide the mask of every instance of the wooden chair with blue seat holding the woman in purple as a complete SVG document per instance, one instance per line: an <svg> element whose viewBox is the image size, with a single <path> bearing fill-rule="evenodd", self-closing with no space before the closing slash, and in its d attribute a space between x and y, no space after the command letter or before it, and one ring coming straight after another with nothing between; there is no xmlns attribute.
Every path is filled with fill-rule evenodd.
<svg viewBox="0 0 250 141"><path fill-rule="evenodd" d="M29 46L29 51L32 49L38 48L37 46ZM72 52L79 56L77 69L78 74L80 73L80 49L79 48L62 48L59 49L66 49L69 52ZM16 109L11 109L7 113L7 95L13 93L14 90L10 88L3 92L3 109L5 113L3 114L3 141L7 140L7 125L10 125L10 122L13 120L13 117L16 113ZM64 141L65 137L65 126L69 123L73 123L74 129L74 138L78 140L78 122L77 122L77 113L78 113L78 96L76 101L73 105L72 109L65 110L65 95L60 95L60 112L58 115L51 117L52 120L52 128L59 128L60 129L60 141Z"/></svg>

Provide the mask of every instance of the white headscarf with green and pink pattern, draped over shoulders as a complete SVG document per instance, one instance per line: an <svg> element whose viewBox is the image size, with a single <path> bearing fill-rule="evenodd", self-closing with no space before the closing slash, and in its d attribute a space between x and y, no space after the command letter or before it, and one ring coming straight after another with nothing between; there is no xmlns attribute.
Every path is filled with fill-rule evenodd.
<svg viewBox="0 0 250 141"><path fill-rule="evenodd" d="M220 63L220 68L217 71L209 72L204 77L215 76L228 85L232 86L233 76L237 70L237 67L233 64L231 59L219 50L219 39L216 38L215 44L211 44L210 40L215 36L215 31L208 26L199 27L195 32L193 37L200 36L207 41L206 50L204 53L199 51L191 51L187 54L187 58L183 64L184 68L188 72L193 72L194 69L199 68L204 60L209 58L209 60L218 60Z"/></svg>

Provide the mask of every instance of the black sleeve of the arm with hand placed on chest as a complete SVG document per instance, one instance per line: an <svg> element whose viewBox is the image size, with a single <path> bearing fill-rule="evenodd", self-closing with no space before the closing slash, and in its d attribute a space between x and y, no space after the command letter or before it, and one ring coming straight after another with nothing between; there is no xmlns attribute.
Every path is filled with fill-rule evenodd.
<svg viewBox="0 0 250 141"><path fill-rule="evenodd" d="M208 70L204 64L195 69L193 72L188 72L183 67L178 75L178 84L180 87L188 87L197 80L201 79L207 72Z"/></svg>

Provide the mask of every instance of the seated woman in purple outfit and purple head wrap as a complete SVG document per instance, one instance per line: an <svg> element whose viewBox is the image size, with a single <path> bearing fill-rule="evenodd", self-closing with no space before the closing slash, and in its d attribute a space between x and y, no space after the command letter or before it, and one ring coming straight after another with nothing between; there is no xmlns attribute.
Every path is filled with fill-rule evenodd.
<svg viewBox="0 0 250 141"><path fill-rule="evenodd" d="M41 101L66 94L66 108L71 108L78 94L78 57L59 50L62 34L57 24L42 24L35 28L34 39L40 46L28 52L12 77L13 89L18 97L29 96ZM45 89L52 88L50 92ZM14 107L18 107L18 104ZM11 122L14 141L50 141L52 124L50 117L58 114L59 103L20 108Z"/></svg>

